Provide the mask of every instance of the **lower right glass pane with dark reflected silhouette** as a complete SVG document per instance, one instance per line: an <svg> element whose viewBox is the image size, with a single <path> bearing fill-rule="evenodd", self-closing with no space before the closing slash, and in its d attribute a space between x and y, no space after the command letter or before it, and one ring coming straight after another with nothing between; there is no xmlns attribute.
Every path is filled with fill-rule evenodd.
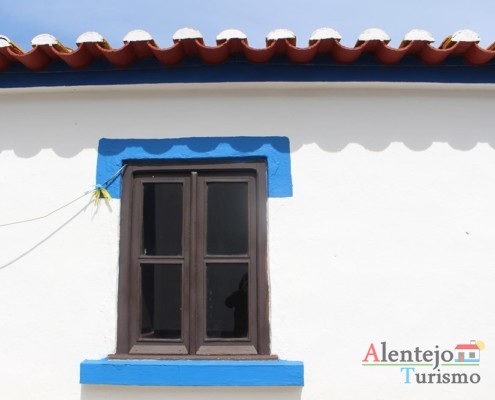
<svg viewBox="0 0 495 400"><path fill-rule="evenodd" d="M207 264L206 290L207 337L247 337L248 265Z"/></svg>

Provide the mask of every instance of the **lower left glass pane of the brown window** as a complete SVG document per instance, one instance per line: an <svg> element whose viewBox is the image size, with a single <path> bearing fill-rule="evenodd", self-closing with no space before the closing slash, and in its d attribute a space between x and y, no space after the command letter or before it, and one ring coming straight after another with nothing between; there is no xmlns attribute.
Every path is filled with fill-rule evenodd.
<svg viewBox="0 0 495 400"><path fill-rule="evenodd" d="M182 267L141 265L141 337L181 337Z"/></svg>

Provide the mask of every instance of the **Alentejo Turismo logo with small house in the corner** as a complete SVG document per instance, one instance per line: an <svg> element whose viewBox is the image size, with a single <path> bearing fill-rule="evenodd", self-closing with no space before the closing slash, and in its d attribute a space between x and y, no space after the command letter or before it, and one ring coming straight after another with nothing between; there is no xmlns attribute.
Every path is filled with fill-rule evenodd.
<svg viewBox="0 0 495 400"><path fill-rule="evenodd" d="M389 350L387 342L371 343L362 360L363 367L398 367L405 384L477 384L480 374L473 368L480 365L481 340L458 344L452 350ZM427 372L425 372L425 369Z"/></svg>

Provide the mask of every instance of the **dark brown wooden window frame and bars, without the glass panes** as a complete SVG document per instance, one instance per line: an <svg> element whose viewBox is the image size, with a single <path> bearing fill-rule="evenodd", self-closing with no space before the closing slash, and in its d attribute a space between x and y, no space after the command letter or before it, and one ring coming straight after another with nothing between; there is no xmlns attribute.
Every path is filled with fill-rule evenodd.
<svg viewBox="0 0 495 400"><path fill-rule="evenodd" d="M142 225L142 182L158 182L160 179L180 180L181 174L191 179L190 192L184 197L191 199L204 196L201 191L204 181L213 177L219 180L236 181L252 180L249 190L249 250L247 263L249 271L249 334L248 338L239 339L207 339L202 331L205 325L205 277L204 257L206 250L199 250L203 261L198 258L196 244L203 243L198 232L203 232L205 211L201 202L186 201L185 211L190 213L190 223L185 224L184 267L182 287L182 339L163 340L140 338L140 275L139 266L143 263L173 263L173 257L145 256L138 251L141 247ZM199 175L198 175L199 174ZM171 178L171 176L177 178ZM236 178L236 177L241 178ZM140 186L141 185L141 186ZM267 272L267 183L266 161L243 160L217 162L161 162L127 163L123 176L120 230L120 273L118 295L117 352L111 358L166 358L166 359L273 359L270 355L269 341L269 297ZM198 195L199 193L199 195ZM199 209L196 209L199 204ZM192 207L188 209L189 205ZM204 243L202 244L204 246ZM213 257L214 262L222 262ZM221 258L221 257L220 257ZM198 261L200 260L200 261ZM227 261L229 258L227 257ZM236 258L236 261L239 261ZM203 266L198 267L199 263Z"/></svg>

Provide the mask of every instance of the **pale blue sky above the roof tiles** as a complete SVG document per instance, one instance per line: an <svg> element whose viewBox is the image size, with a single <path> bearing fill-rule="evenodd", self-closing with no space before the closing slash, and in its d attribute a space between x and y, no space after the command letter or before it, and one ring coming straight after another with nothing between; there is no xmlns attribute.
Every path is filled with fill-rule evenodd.
<svg viewBox="0 0 495 400"><path fill-rule="evenodd" d="M2 4L3 3L3 4ZM411 29L425 29L442 40L460 29L481 36L481 45L495 42L495 0L0 0L0 35L24 50L31 39L49 33L65 46L76 47L88 31L103 35L114 48L134 29L149 32L160 47L172 45L174 32L198 29L207 45L225 29L239 29L253 47L264 47L268 32L293 31L297 45L308 45L311 33L330 27L342 35L342 44L354 46L367 28L380 28L398 46Z"/></svg>

